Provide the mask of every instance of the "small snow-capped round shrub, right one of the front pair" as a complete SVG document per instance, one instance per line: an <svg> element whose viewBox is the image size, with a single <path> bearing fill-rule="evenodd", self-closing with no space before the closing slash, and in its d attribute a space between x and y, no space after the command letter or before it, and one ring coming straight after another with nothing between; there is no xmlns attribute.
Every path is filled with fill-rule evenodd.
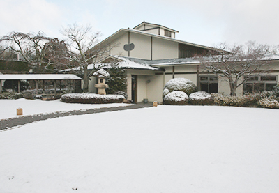
<svg viewBox="0 0 279 193"><path fill-rule="evenodd" d="M204 91L198 91L189 95L191 105L213 105L214 100L211 94Z"/></svg>

